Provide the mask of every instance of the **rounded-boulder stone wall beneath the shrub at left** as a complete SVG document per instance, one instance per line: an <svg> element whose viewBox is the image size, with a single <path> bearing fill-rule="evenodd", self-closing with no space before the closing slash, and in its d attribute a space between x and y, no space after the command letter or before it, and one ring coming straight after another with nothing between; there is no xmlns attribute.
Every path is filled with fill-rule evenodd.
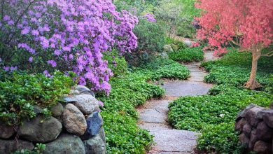
<svg viewBox="0 0 273 154"><path fill-rule="evenodd" d="M87 87L77 85L71 94L52 107L45 118L34 107L36 117L22 125L8 126L0 122L0 153L22 149L32 151L36 143L45 144L45 154L106 153L106 141L99 102Z"/></svg>

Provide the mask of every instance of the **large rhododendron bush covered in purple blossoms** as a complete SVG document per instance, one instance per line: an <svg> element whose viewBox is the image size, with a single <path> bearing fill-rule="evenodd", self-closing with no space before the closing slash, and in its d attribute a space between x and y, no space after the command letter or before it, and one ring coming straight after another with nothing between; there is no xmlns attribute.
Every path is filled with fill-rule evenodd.
<svg viewBox="0 0 273 154"><path fill-rule="evenodd" d="M111 0L2 0L0 18L3 69L73 71L92 90L111 89L102 52L137 48L137 18Z"/></svg>

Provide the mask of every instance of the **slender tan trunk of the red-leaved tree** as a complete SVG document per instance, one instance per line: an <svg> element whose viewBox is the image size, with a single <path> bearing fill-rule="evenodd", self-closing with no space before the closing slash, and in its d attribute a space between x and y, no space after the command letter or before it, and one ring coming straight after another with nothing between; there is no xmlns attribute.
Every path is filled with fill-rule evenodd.
<svg viewBox="0 0 273 154"><path fill-rule="evenodd" d="M257 65L258 65L258 59L260 59L261 50L253 50L252 51L252 68L251 68L251 75L244 85L246 88L255 90L258 87L261 87L260 83L256 80L256 73L257 73Z"/></svg>

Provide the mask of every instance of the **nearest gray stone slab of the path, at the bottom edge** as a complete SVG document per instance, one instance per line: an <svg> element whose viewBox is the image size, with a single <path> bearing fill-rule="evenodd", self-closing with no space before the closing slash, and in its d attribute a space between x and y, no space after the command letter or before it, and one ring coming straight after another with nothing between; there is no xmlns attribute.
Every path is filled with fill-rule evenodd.
<svg viewBox="0 0 273 154"><path fill-rule="evenodd" d="M196 146L197 132L186 130L161 130L151 132L155 136L155 146L151 153L181 152L190 153Z"/></svg>

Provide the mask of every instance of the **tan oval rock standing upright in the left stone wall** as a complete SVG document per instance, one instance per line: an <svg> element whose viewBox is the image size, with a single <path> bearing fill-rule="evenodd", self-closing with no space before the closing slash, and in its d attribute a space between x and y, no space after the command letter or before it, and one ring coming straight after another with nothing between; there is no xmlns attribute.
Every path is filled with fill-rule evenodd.
<svg viewBox="0 0 273 154"><path fill-rule="evenodd" d="M64 107L64 113L62 113L62 123L67 132L76 134L78 136L83 135L87 128L85 116L80 110L73 104L67 104Z"/></svg>

